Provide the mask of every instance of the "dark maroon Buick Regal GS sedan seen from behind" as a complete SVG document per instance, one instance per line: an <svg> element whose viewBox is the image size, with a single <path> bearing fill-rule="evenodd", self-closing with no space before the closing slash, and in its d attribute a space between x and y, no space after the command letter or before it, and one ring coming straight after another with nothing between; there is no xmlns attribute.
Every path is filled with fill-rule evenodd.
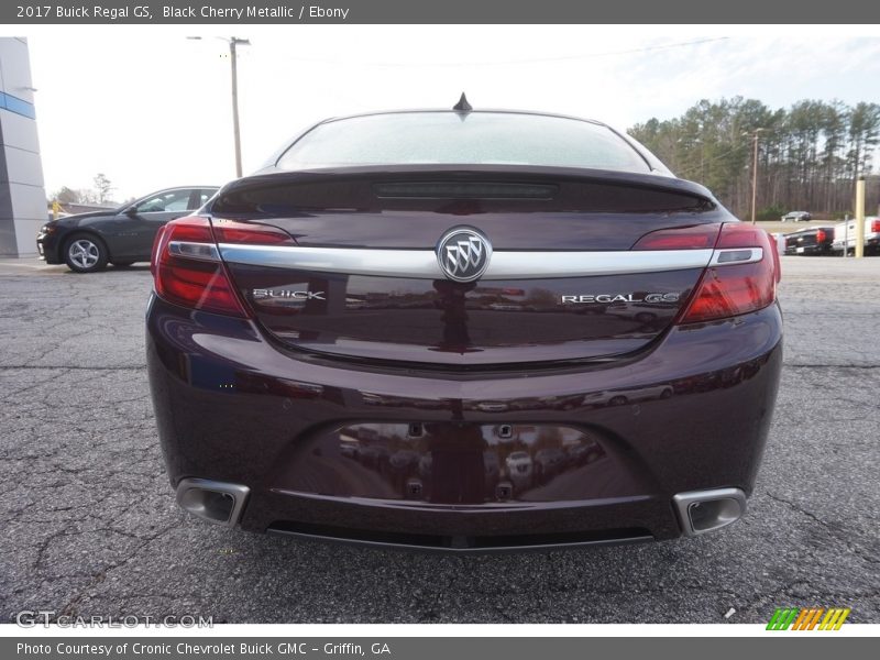
<svg viewBox="0 0 880 660"><path fill-rule="evenodd" d="M328 120L168 223L153 270L156 420L199 517L480 551L746 510L777 251L604 124Z"/></svg>

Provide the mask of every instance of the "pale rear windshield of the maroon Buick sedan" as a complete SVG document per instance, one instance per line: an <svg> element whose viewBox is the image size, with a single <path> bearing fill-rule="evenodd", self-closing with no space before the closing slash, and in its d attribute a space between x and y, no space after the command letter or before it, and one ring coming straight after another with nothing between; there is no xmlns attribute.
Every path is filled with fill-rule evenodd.
<svg viewBox="0 0 880 660"><path fill-rule="evenodd" d="M330 121L302 135L277 163L282 169L407 164L650 172L606 127L506 112L398 112Z"/></svg>

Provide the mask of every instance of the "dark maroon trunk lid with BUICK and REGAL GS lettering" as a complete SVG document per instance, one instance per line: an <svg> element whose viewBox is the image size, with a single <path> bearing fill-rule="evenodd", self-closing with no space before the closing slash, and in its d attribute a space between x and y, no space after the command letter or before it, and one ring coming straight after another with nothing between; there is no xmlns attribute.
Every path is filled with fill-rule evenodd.
<svg viewBox="0 0 880 660"><path fill-rule="evenodd" d="M735 220L670 177L516 166L270 174L224 189L211 213L234 286L280 345L444 369L650 345L698 283L719 223ZM706 226L705 245L640 249L658 230ZM284 244L235 241L242 227ZM450 278L436 253L458 228L491 245L473 282Z"/></svg>

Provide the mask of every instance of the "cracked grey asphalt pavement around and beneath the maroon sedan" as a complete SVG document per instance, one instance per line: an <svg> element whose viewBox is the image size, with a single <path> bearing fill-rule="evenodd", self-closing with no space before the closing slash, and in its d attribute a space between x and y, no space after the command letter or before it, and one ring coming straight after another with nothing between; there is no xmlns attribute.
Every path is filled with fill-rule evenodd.
<svg viewBox="0 0 880 660"><path fill-rule="evenodd" d="M880 257L783 257L783 273L785 366L746 518L697 539L450 557L180 513L144 367L148 268L0 260L0 622L766 623L820 605L880 623Z"/></svg>

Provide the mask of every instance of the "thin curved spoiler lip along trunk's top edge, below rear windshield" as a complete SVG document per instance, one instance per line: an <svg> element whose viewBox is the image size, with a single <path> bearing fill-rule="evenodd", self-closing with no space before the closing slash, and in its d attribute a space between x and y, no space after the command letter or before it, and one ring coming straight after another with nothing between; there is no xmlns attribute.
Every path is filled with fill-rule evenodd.
<svg viewBox="0 0 880 660"><path fill-rule="evenodd" d="M635 186L653 190L690 195L708 202L713 207L722 205L700 184L680 179L663 173L635 173L614 169L586 169L579 167L550 167L537 165L370 165L358 167L326 167L316 169L283 170L266 167L258 173L230 182L217 195L216 200L244 188L274 187L283 183L315 183L327 179L381 177L384 180L399 176L404 180L429 180L438 175L452 177L453 180L483 179L485 175L495 175L501 180L552 182L583 180L606 185Z"/></svg>

